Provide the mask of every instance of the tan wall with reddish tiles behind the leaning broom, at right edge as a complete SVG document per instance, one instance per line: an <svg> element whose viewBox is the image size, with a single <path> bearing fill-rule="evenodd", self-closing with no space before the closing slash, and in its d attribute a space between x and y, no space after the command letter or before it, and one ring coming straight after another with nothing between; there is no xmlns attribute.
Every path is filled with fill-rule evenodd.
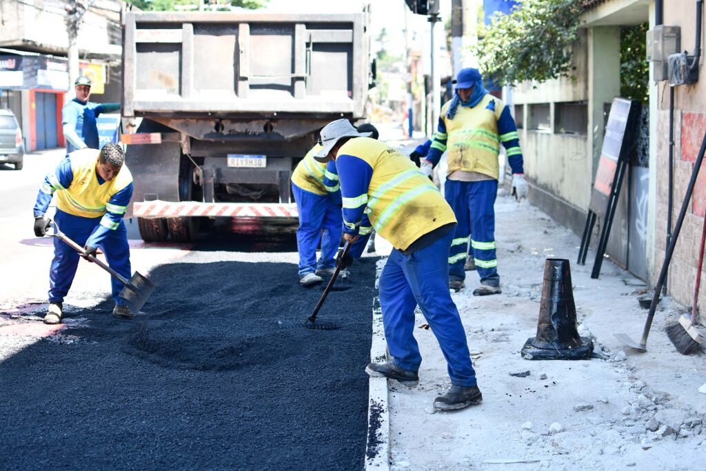
<svg viewBox="0 0 706 471"><path fill-rule="evenodd" d="M672 0L664 8L664 24L681 27L681 49L693 54L695 45L695 2ZM702 18L703 22L703 18ZM702 26L703 28L703 26ZM703 33L702 33L703 34ZM701 41L704 48L704 42ZM674 88L674 208L673 224L676 223L683 203L686 187L691 177L694 160L706 132L706 70L704 52L700 59L698 83ZM666 247L666 214L668 201L668 179L666 169L669 156L669 88L657 86L657 195L655 203L656 224L654 227L654 273L652 282L657 282L659 269L664 261ZM652 166L652 163L650 163ZM702 165L693 198L688 203L681 234L678 237L674 258L669 271L669 292L682 304L690 306L693 299L696 265L698 263L701 231L706 210L706 165ZM702 277L704 273L702 273ZM706 309L706 282L700 290L701 309ZM702 323L705 321L701 316Z"/></svg>

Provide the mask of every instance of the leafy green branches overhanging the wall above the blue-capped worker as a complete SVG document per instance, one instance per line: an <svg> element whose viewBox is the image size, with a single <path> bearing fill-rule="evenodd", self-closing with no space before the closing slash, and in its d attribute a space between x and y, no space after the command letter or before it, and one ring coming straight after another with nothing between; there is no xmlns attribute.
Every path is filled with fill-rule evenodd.
<svg viewBox="0 0 706 471"><path fill-rule="evenodd" d="M481 72L507 85L570 77L581 12L580 0L532 0L495 13L472 47Z"/></svg>

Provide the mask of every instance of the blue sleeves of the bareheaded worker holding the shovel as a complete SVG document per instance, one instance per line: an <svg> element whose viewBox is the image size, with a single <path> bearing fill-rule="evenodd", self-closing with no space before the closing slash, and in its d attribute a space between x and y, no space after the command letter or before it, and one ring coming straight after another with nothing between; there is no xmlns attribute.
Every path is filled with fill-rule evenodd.
<svg viewBox="0 0 706 471"><path fill-rule="evenodd" d="M58 186L55 186L52 184L52 180L55 177L56 180L61 184L61 187L63 188L68 188L71 186L71 183L73 182L73 170L71 169L71 157L68 157L64 160L61 160L59 162L59 165L56 166L52 172L49 172L45 177L44 181L42 181L42 186L40 187L39 193L37 193L37 201L35 202L35 207L34 207L34 215L35 217L40 217L43 216L44 213L47 213L47 209L49 208L49 203L52 202L52 196L54 196L54 192L59 189ZM102 185L106 183L104 179L100 177L100 175L96 172L96 177L98 179L98 184ZM121 189L117 193L115 193L111 198L109 199L107 203L107 208L110 208L111 205L114 207L126 207L132 198L132 193L133 193L133 184L130 183L127 186L125 186L124 189ZM119 223L123 216L124 213L113 213L110 210L106 210L105 214L103 217L107 217L110 222L115 223L114 227L117 227L117 223ZM97 229L91 236L88 238L88 242L86 242L86 245L88 246L98 246L101 242L103 242L103 239L107 237L109 234L109 231L114 230L114 229L109 229L108 227L105 227L104 225L98 225Z"/></svg>

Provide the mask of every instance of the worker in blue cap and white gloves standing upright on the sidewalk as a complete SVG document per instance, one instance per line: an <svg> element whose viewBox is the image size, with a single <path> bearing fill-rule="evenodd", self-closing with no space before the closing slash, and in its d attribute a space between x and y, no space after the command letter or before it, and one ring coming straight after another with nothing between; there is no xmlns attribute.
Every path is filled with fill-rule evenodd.
<svg viewBox="0 0 706 471"><path fill-rule="evenodd" d="M458 220L448 257L449 288L458 291L465 286L466 247L470 242L481 279L480 287L473 294L498 294L501 287L494 209L498 193L498 155L502 143L513 171L513 193L517 198L525 198L527 181L522 169L522 150L510 109L487 93L477 69L463 68L455 86L453 99L441 108L438 131L429 154L421 162L421 169L431 174L433 165L448 150L444 193Z"/></svg>

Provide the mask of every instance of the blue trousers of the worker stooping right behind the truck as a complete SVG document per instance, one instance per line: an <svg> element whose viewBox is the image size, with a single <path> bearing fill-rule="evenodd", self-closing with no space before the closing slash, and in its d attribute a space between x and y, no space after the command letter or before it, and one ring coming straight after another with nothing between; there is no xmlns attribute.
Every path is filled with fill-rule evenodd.
<svg viewBox="0 0 706 471"><path fill-rule="evenodd" d="M341 243L343 215L340 193L317 195L292 184L292 193L299 210L297 249L299 278L319 268L333 268ZM322 234L323 232L323 234ZM321 257L316 261L316 249L321 242Z"/></svg>

